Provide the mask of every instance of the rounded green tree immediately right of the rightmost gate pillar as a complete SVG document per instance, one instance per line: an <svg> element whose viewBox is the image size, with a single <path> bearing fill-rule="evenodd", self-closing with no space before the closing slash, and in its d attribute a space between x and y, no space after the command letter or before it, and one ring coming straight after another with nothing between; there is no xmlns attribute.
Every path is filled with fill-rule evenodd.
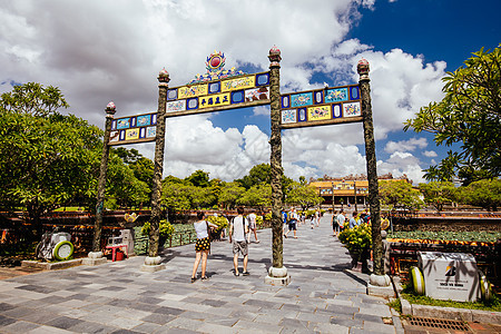
<svg viewBox="0 0 501 334"><path fill-rule="evenodd" d="M419 209L422 205L420 191L405 180L380 180L381 204L390 209Z"/></svg>

